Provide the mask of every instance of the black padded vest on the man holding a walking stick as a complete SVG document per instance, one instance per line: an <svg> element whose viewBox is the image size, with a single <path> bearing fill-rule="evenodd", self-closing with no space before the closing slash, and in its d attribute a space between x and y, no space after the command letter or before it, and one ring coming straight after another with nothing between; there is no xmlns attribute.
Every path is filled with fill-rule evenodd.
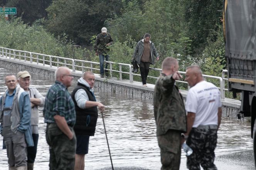
<svg viewBox="0 0 256 170"><path fill-rule="evenodd" d="M81 109L77 106L75 94L79 89L83 89L87 93L89 101L95 102L93 94L89 91L89 88L78 82L77 87L71 93L71 97L76 107L76 124L74 126L74 131L76 135L94 136L96 123L98 119L98 110L96 106L85 109Z"/></svg>

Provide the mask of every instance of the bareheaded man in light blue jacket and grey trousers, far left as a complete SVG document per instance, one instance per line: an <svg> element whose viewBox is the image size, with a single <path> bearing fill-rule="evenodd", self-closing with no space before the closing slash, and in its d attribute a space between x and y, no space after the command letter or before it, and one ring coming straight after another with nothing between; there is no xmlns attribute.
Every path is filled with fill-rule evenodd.
<svg viewBox="0 0 256 170"><path fill-rule="evenodd" d="M27 147L34 146L28 93L16 85L15 75L5 76L7 90L0 99L0 132L7 148L9 170L27 170Z"/></svg>

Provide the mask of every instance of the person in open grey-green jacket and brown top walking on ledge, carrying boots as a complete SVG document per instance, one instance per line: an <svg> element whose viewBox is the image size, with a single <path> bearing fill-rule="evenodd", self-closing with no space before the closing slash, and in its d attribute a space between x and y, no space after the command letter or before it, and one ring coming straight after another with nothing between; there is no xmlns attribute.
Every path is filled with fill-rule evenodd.
<svg viewBox="0 0 256 170"><path fill-rule="evenodd" d="M133 57L134 60L140 66L140 75L142 79L143 86L147 87L147 77L149 72L149 65L154 64L154 57L157 57L159 60L159 55L157 49L153 42L150 41L151 35L146 33L144 39L140 40L134 50Z"/></svg>

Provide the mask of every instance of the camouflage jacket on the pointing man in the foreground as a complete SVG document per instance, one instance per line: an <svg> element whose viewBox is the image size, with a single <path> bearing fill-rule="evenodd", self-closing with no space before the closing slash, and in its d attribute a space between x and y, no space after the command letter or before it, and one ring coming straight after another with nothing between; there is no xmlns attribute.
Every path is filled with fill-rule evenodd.
<svg viewBox="0 0 256 170"><path fill-rule="evenodd" d="M187 116L184 102L172 75L161 74L155 84L154 114L157 123L157 135L165 134L169 129L187 131Z"/></svg>

